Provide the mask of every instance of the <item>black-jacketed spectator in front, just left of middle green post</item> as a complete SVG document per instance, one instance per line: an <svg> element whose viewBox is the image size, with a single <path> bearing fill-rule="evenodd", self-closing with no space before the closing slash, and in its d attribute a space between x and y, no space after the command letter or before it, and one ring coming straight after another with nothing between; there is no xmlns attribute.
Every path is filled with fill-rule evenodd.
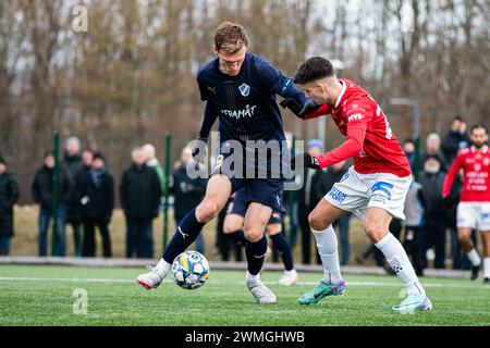
<svg viewBox="0 0 490 348"><path fill-rule="evenodd" d="M126 219L126 258L151 259L154 232L151 221L158 216L161 186L157 172L146 165L142 148L132 153L133 164L123 173L120 198Z"/></svg>

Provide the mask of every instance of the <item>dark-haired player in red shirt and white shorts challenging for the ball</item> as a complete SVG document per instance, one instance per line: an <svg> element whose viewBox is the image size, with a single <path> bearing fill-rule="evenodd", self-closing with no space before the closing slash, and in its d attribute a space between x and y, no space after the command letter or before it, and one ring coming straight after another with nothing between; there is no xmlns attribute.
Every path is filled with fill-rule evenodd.
<svg viewBox="0 0 490 348"><path fill-rule="evenodd" d="M367 236L387 258L407 289L399 312L432 308L414 268L400 241L389 232L393 216L404 219L405 196L412 183L406 156L390 128L387 116L372 97L348 79L339 79L332 64L319 57L299 67L295 83L320 105L303 119L331 115L346 140L336 149L318 157L304 153L304 165L324 169L350 158L354 165L324 196L308 221L321 257L324 277L301 304L317 303L330 295L343 295L345 282L340 273L338 241L332 223L347 212L364 220Z"/></svg>

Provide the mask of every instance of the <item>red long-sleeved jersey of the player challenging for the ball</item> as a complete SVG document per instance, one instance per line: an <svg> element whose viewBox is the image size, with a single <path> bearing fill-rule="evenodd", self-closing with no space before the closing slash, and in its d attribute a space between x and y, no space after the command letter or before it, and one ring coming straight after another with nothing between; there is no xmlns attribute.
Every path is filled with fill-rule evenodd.
<svg viewBox="0 0 490 348"><path fill-rule="evenodd" d="M360 174L411 175L408 159L375 99L352 80L339 80L343 87L335 105L322 104L305 115L306 120L330 114L340 132L347 137L336 149L317 157L320 166L354 157L354 169Z"/></svg>

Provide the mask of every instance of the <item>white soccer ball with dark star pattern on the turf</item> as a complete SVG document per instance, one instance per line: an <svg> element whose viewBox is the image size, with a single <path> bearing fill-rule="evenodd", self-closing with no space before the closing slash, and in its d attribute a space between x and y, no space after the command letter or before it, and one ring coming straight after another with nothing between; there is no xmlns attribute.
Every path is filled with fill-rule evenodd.
<svg viewBox="0 0 490 348"><path fill-rule="evenodd" d="M173 260L172 275L176 285L192 290L201 287L209 277L209 263L197 251L185 251Z"/></svg>

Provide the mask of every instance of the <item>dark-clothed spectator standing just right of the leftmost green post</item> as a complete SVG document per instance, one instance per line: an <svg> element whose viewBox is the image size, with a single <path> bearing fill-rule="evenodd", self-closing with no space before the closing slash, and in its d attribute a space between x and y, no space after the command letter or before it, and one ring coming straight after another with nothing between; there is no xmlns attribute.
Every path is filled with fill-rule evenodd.
<svg viewBox="0 0 490 348"><path fill-rule="evenodd" d="M78 201L77 176L84 169L79 149L81 144L77 137L70 137L66 139L63 166L70 175L74 187L70 199L66 202L65 223L72 225L75 256L77 257L82 256L82 216Z"/></svg>

